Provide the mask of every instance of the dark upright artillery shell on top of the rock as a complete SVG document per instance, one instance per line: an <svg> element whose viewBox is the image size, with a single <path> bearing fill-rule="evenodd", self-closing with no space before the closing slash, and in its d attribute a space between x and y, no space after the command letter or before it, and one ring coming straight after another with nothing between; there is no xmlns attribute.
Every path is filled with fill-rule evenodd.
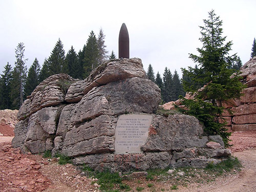
<svg viewBox="0 0 256 192"><path fill-rule="evenodd" d="M123 23L118 38L118 56L119 58L129 58L129 34L126 25Z"/></svg>

